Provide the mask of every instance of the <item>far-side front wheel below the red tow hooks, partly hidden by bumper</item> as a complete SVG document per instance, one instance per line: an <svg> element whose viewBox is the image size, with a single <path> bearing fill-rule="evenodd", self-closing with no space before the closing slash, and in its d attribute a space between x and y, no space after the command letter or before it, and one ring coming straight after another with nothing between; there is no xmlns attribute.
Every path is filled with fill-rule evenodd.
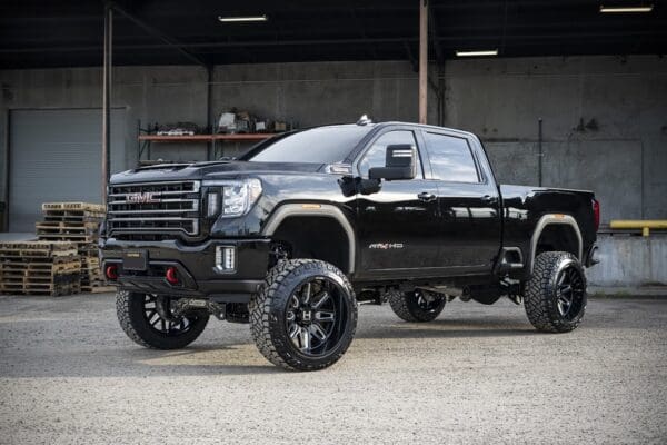
<svg viewBox="0 0 667 445"><path fill-rule="evenodd" d="M156 349L179 349L203 332L209 315L178 315L168 296L118 291L116 313L122 330L135 343Z"/></svg>

